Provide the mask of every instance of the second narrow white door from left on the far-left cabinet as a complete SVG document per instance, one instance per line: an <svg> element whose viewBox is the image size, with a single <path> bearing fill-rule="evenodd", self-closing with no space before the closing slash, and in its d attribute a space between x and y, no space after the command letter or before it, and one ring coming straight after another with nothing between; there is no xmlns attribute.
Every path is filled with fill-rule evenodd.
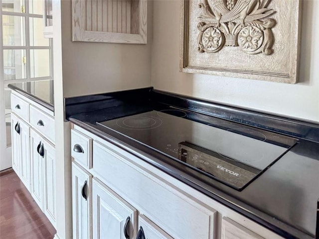
<svg viewBox="0 0 319 239"><path fill-rule="evenodd" d="M30 191L30 126L19 120L20 123L20 179Z"/></svg>

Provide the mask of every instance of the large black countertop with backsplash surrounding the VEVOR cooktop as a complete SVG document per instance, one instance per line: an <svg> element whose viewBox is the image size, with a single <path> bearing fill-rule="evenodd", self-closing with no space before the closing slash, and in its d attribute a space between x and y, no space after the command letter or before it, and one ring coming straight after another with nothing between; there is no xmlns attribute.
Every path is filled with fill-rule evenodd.
<svg viewBox="0 0 319 239"><path fill-rule="evenodd" d="M299 141L243 191L237 191L194 172L136 140L96 124L145 112L150 107L148 103L155 100L166 105L173 103L183 109L193 108L194 111L206 113L205 117L213 115L220 119L244 122L256 128L294 136ZM86 99L66 99L66 116L71 122L149 162L284 238L316 237L316 225L319 223L316 221L319 199L317 123L240 110L152 89L110 93Z"/></svg>

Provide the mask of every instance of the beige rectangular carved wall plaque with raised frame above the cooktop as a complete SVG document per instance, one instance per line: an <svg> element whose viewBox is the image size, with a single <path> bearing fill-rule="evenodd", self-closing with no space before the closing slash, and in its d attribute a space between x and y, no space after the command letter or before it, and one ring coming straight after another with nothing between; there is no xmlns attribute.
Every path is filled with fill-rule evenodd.
<svg viewBox="0 0 319 239"><path fill-rule="evenodd" d="M296 83L299 0L181 0L180 70Z"/></svg>

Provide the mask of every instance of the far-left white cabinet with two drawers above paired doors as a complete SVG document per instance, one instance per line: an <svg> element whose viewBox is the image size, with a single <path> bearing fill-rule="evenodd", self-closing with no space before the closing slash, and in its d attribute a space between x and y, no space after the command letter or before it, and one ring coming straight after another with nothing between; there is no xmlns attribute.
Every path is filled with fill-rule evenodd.
<svg viewBox="0 0 319 239"><path fill-rule="evenodd" d="M53 112L16 92L11 94L11 108L12 168L55 227Z"/></svg>

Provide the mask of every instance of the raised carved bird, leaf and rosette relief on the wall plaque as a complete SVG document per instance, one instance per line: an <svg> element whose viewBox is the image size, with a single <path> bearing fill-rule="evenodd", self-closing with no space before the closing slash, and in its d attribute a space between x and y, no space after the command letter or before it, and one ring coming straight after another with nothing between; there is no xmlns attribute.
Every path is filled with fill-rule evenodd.
<svg viewBox="0 0 319 239"><path fill-rule="evenodd" d="M198 16L199 52L218 52L224 46L240 47L248 54L273 53L275 13L271 0L204 0Z"/></svg>

